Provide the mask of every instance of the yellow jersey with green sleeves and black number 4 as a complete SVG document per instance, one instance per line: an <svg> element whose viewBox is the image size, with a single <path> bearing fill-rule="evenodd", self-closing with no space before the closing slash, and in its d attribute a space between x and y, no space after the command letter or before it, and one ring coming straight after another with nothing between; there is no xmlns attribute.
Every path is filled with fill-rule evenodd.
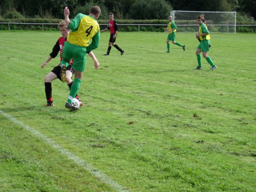
<svg viewBox="0 0 256 192"><path fill-rule="evenodd" d="M71 44L88 47L89 41L93 38L94 43L99 44L99 23L90 15L79 13L68 25L72 31L67 36Z"/></svg>

